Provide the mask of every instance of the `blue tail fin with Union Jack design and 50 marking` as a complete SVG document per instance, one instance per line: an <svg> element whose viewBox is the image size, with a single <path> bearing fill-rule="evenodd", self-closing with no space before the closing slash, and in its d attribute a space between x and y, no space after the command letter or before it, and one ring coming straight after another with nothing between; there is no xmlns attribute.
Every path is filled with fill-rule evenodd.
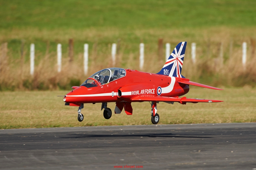
<svg viewBox="0 0 256 170"><path fill-rule="evenodd" d="M172 77L185 78L181 75L187 42L180 42L172 51L172 54L164 64L161 71L156 74L163 74Z"/></svg>

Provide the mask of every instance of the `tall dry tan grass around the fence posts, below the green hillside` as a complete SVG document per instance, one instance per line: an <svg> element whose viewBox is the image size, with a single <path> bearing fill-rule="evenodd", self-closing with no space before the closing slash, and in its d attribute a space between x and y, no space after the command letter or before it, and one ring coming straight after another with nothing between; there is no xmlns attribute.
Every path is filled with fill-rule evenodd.
<svg viewBox="0 0 256 170"><path fill-rule="evenodd" d="M208 85L255 86L256 52L255 28L197 28L194 30L126 30L124 32L109 28L103 30L11 30L0 32L0 42L10 39L26 39L29 46L36 44L36 66L34 76L29 74L29 48L25 48L24 57L19 51L8 47L5 58L1 58L0 90L58 90L80 85L94 72L108 67L139 69L139 43L145 43L145 63L142 71L158 72L164 64L164 56L157 56L157 39L164 37L164 43L170 42L173 49L178 42L188 41L182 75L192 81ZM67 40L75 40L75 58L69 63ZM116 65L111 63L111 43L120 40L120 50L116 56ZM50 41L49 48L38 49L40 43ZM242 66L242 43L247 42L247 64ZM83 43L89 43L89 73L83 70ZM196 42L196 64L191 60L191 43ZM63 45L62 71L57 72L57 43ZM54 45L55 44L55 45ZM223 58L220 57L222 44ZM53 45L55 47L53 47ZM9 44L9 46L11 46ZM42 46L42 44L41 44ZM38 47L38 48L37 48ZM51 50L52 49L52 50ZM45 50L45 51L44 51ZM3 56L3 50L0 51Z"/></svg>

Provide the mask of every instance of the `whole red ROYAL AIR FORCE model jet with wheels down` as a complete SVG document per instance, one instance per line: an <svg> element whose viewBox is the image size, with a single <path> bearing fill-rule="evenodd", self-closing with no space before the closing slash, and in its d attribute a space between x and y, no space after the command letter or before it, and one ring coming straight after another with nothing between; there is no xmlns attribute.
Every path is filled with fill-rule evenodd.
<svg viewBox="0 0 256 170"><path fill-rule="evenodd" d="M221 100L188 99L181 97L188 93L189 85L222 90L216 87L189 81L181 75L183 59L187 42L180 42L158 73L147 73L131 69L108 68L90 76L80 86L73 86L71 92L65 95L65 105L78 106L78 121L84 120L81 109L84 103L102 103L101 110L105 119L109 119L112 111L108 102L116 102L115 114L124 109L127 115L132 115L132 102L151 102L151 122L157 124L159 115L156 104L160 101L180 104L198 102L222 102Z"/></svg>

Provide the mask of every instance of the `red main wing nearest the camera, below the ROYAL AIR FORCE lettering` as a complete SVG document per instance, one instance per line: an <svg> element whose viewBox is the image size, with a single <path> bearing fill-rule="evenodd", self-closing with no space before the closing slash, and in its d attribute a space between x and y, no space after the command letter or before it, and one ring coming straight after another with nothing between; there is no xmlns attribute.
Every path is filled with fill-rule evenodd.
<svg viewBox="0 0 256 170"><path fill-rule="evenodd" d="M163 102L179 102L181 104L186 103L198 103L198 102L222 102L221 100L208 100L208 99L190 99L186 97L175 98L175 97L164 97L164 96L150 96L150 95L140 95L132 98L133 102L141 101L163 101Z"/></svg>

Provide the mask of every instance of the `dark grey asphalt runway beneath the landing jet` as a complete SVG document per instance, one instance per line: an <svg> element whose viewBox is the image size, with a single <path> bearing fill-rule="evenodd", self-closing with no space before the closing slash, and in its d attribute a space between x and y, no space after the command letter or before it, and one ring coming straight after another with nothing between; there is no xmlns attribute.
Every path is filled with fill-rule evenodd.
<svg viewBox="0 0 256 170"><path fill-rule="evenodd" d="M256 123L3 129L0 169L256 170Z"/></svg>

